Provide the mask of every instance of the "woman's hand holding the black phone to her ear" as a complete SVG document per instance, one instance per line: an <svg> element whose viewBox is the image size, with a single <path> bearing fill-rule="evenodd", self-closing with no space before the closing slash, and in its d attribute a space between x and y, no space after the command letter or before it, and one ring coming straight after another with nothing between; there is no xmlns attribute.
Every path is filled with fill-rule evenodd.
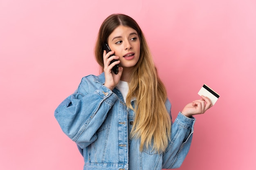
<svg viewBox="0 0 256 170"><path fill-rule="evenodd" d="M115 51L110 51L110 52L106 53L106 51L104 50L104 52L103 52L103 62L104 62L104 69L103 70L104 70L104 73L105 73L105 84L104 84L104 86L109 88L111 91L119 83L122 72L123 72L123 68L121 66L119 66L117 74L112 72L112 68L116 64L120 63L120 60L118 60L119 59L118 56L113 55L113 56L109 57L110 55L112 55L114 53L115 53ZM116 59L118 61L115 61L112 64L110 64L110 62L113 59Z"/></svg>

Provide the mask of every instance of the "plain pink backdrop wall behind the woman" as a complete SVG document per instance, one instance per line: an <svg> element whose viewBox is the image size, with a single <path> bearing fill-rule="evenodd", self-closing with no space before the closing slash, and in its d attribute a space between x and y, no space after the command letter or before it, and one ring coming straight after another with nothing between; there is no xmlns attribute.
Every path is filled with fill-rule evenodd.
<svg viewBox="0 0 256 170"><path fill-rule="evenodd" d="M220 94L195 116L179 170L255 170L255 0L1 0L0 169L83 169L54 110L99 73L93 47L112 13L144 31L174 118L203 84Z"/></svg>

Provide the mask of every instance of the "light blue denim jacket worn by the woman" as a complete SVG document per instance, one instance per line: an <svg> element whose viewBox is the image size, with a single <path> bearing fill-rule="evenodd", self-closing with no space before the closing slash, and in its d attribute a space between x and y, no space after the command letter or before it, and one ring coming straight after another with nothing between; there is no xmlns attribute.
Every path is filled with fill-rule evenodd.
<svg viewBox="0 0 256 170"><path fill-rule="evenodd" d="M55 110L63 132L76 142L84 170L161 170L178 168L191 145L195 118L177 115L165 152L139 151L140 140L130 139L135 113L126 107L117 88L104 86L104 73L83 77L74 94ZM135 99L131 101L134 106ZM171 113L171 104L166 101ZM170 114L171 116L171 114Z"/></svg>

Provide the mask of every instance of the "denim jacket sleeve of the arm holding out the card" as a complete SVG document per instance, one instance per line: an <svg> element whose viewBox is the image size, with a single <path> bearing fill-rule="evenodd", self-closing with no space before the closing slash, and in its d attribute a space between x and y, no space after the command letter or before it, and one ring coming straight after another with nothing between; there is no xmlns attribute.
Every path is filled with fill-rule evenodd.
<svg viewBox="0 0 256 170"><path fill-rule="evenodd" d="M171 126L171 141L163 153L163 168L179 168L182 165L193 136L194 117L186 117L179 113Z"/></svg>

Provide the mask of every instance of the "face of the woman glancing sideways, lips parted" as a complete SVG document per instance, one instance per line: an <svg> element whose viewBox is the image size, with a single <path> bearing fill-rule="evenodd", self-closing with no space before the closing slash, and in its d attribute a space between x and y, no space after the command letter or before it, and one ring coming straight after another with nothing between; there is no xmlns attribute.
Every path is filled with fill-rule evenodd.
<svg viewBox="0 0 256 170"><path fill-rule="evenodd" d="M108 37L108 45L119 56L120 66L132 68L139 60L140 41L137 31L127 26L118 26Z"/></svg>

